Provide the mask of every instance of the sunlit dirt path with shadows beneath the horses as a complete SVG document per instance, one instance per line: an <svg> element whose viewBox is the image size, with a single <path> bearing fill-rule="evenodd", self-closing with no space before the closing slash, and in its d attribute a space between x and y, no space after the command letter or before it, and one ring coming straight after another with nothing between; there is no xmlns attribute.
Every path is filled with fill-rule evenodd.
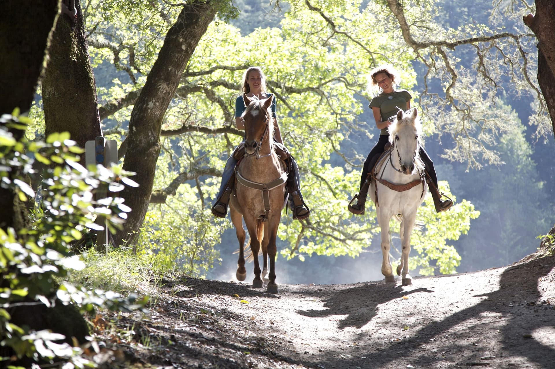
<svg viewBox="0 0 555 369"><path fill-rule="evenodd" d="M164 282L149 319L111 317L123 366L555 368L555 257L408 287Z"/></svg>

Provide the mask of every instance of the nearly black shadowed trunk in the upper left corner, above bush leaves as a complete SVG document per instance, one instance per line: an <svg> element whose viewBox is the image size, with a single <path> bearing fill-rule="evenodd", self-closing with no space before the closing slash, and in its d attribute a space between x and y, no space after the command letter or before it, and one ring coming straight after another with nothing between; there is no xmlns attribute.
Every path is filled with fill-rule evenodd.
<svg viewBox="0 0 555 369"><path fill-rule="evenodd" d="M58 0L0 2L0 114L31 108L57 13Z"/></svg>

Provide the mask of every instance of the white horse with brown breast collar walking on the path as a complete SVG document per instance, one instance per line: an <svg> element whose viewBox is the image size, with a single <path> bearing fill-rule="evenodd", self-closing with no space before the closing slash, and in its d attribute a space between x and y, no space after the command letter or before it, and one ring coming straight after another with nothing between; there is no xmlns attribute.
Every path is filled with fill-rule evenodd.
<svg viewBox="0 0 555 369"><path fill-rule="evenodd" d="M420 160L421 124L416 109L397 113L389 127L389 141L393 147L382 156L377 173L372 173L370 196L376 205L381 228L382 267L386 282L395 282L389 258L389 223L392 216L401 221L400 235L402 256L397 267L402 285L412 284L408 272L408 254L411 251L411 232L416 221L418 206L426 194L424 164ZM381 164L381 166L380 166Z"/></svg>

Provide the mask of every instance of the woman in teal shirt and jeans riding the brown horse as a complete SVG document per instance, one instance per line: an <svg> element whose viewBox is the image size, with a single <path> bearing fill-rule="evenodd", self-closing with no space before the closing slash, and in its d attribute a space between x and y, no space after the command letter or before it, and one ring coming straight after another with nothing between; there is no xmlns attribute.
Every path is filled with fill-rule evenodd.
<svg viewBox="0 0 555 369"><path fill-rule="evenodd" d="M243 93L246 93L248 97L256 97L258 99L266 99L271 96L266 92L266 78L262 69L259 67L250 67L245 71L243 75L243 87L241 87L241 93L239 97L235 100L235 126L238 129L245 129L245 120L241 115L245 112L245 103L243 101ZM281 132L278 125L278 119L276 118L276 100L270 107L272 115L274 117L274 140L279 144L283 144L281 139ZM241 146L241 145L239 145ZM238 146L238 147L239 147ZM237 150L237 148L235 149ZM234 151L235 152L235 151ZM299 167L297 162L290 156L290 170L287 174L287 190L289 191L289 207L293 213L293 219L306 219L310 215L310 209L306 206L304 200L302 199L302 194L300 190L300 176ZM228 214L228 203L229 196L233 191L233 186L235 185L235 165L237 160L234 158L234 154L231 154L228 161L225 164L224 173L221 175L221 185L220 191L216 196L216 201L212 206L212 214L218 216L219 218L225 218Z"/></svg>

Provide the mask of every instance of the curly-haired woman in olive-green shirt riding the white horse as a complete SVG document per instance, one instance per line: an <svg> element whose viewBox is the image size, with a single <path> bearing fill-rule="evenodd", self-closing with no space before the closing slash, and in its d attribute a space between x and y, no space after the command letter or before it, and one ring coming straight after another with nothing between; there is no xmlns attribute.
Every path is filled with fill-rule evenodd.
<svg viewBox="0 0 555 369"><path fill-rule="evenodd" d="M380 155L385 151L385 144L389 141L387 128L393 122L399 110L411 108L411 94L407 90L396 89L401 82L401 78L392 65L380 65L370 72L370 76L369 89L377 86L380 90L380 93L375 95L368 105L374 114L376 127L380 129L380 138L364 161L360 179L360 191L349 202L349 211L353 214L364 214L366 195L368 194L371 181L371 170L374 168ZM420 146L420 158L426 165L426 181L430 188L437 213L448 210L453 205L453 201L450 199L441 200L442 194L437 189L437 175L436 170L433 168L433 161L422 146ZM353 204L355 200L356 203Z"/></svg>

